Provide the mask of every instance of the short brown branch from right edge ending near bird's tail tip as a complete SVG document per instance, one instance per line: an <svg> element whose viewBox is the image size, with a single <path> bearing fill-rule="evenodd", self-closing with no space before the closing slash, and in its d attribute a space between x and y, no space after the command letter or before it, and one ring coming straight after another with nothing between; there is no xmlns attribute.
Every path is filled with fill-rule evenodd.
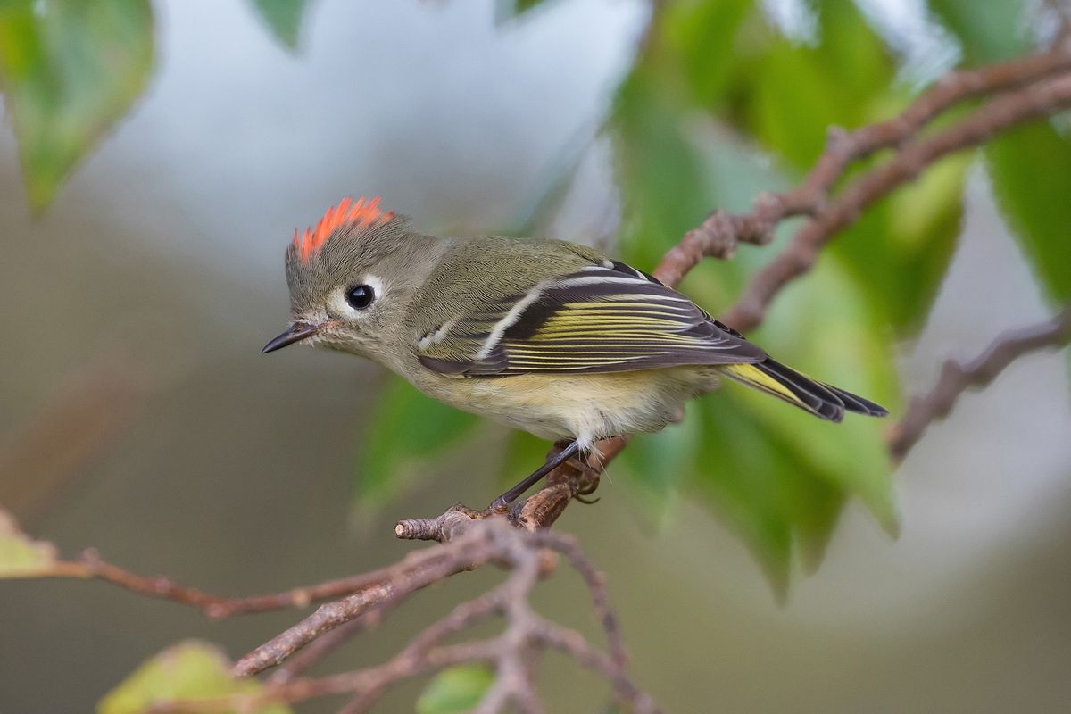
<svg viewBox="0 0 1071 714"><path fill-rule="evenodd" d="M967 363L945 362L940 377L926 394L914 397L907 412L888 437L893 458L903 459L922 438L931 423L948 415L960 395L970 388L985 386L1016 359L1071 343L1071 305L1040 324L1007 332Z"/></svg>

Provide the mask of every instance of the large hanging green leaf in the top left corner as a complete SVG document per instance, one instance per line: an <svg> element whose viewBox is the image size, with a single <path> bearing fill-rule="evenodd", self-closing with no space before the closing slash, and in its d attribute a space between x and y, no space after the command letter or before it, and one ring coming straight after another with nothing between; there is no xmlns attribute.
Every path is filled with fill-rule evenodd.
<svg viewBox="0 0 1071 714"><path fill-rule="evenodd" d="M141 93L152 55L149 0L0 3L0 88L34 210Z"/></svg>

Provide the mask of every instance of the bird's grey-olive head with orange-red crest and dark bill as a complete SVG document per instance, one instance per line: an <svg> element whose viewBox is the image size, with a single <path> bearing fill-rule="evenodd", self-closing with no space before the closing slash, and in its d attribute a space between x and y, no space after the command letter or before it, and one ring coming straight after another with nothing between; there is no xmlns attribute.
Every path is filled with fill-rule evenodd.
<svg viewBox="0 0 1071 714"><path fill-rule="evenodd" d="M286 249L292 322L265 352L298 341L389 362L406 308L434 264L434 239L379 198L344 199Z"/></svg>

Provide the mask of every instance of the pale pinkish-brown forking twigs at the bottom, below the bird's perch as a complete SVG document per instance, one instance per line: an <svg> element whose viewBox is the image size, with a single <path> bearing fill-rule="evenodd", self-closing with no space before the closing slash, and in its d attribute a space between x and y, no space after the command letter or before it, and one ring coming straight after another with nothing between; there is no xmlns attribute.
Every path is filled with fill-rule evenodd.
<svg viewBox="0 0 1071 714"><path fill-rule="evenodd" d="M584 577L606 633L608 654L592 647L579 633L532 612L528 604L531 591L541 576L554 569L547 550L564 556ZM252 711L272 702L350 694L352 698L343 711L359 714L367 711L390 687L404 680L462 663L487 663L495 667L496 678L476 712L498 712L511 702L523 712L542 712L529 664L546 648L560 650L582 666L606 678L617 699L630 705L632 711L659 711L650 697L636 687L625 673L627 658L602 577L573 538L549 531L529 532L513 527L504 518L484 518L471 521L465 533L457 537L420 552L425 553L420 560L438 563L440 573L461 572L496 562L509 568L511 574L498 588L458 605L446 618L425 628L386 664L322 678L271 680L257 694L170 701L160 703L150 711L155 714ZM381 582L321 607L280 637L257 648L235 665L236 674L250 675L262 671L331 627L340 627L335 632L341 632L345 623L367 616L368 602L376 602L379 607L393 605L398 597L423 587L420 583L427 573L401 565L387 568L388 575ZM438 579L444 577L439 575ZM442 644L448 637L493 617L506 619L507 626L501 635L456 645Z"/></svg>

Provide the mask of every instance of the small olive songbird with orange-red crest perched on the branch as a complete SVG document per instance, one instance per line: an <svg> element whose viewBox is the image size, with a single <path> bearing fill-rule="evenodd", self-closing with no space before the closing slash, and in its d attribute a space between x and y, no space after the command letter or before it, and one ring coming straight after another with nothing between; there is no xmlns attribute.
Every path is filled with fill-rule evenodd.
<svg viewBox="0 0 1071 714"><path fill-rule="evenodd" d="M499 497L601 439L658 431L727 377L815 416L878 405L774 362L657 278L564 241L440 238L345 199L286 252L297 341L371 358L452 407L561 450Z"/></svg>

